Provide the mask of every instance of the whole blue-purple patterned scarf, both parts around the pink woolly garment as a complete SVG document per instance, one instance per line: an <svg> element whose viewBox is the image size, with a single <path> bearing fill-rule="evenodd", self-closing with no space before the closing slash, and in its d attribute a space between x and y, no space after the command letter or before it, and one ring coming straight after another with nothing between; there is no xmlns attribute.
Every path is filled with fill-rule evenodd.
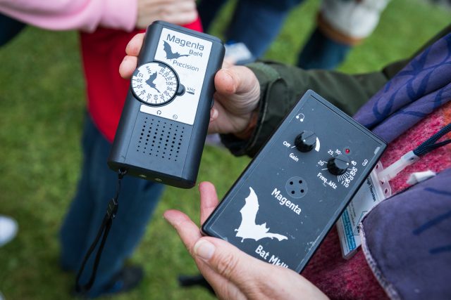
<svg viewBox="0 0 451 300"><path fill-rule="evenodd" d="M450 100L447 34L388 81L354 119L391 142ZM450 183L447 169L381 202L363 219L366 260L391 299L451 299Z"/></svg>

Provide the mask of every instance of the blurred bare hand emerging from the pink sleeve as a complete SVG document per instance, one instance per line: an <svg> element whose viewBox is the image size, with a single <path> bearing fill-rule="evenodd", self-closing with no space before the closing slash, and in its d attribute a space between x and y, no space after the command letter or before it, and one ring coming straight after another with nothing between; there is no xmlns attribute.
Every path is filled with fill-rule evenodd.
<svg viewBox="0 0 451 300"><path fill-rule="evenodd" d="M156 20L184 25L197 19L194 0L138 0L137 28L147 28Z"/></svg>

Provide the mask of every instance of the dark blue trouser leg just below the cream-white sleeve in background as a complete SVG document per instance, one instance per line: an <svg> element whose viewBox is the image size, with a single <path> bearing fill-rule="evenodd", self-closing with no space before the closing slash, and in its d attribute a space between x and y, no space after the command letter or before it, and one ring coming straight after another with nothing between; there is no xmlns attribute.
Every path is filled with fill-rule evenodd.
<svg viewBox="0 0 451 300"><path fill-rule="evenodd" d="M297 60L302 69L335 69L345 60L352 46L327 37L318 27L311 34Z"/></svg>

